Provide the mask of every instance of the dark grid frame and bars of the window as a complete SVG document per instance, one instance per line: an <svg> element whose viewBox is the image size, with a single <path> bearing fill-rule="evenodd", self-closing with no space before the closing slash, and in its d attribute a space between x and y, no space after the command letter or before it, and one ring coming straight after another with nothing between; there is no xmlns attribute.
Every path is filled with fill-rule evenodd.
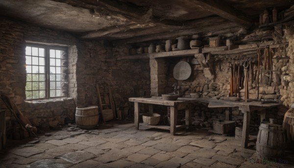
<svg viewBox="0 0 294 168"><path fill-rule="evenodd" d="M45 97L44 98L30 98L28 99L27 97L25 98L25 100L27 101L31 101L31 100L46 100L46 99L53 99L53 98L60 98L60 97L65 97L65 96L62 96L62 68L67 68L66 66L62 66L62 62L63 60L66 60L64 58L62 58L62 55L60 56L60 66L55 66L54 67L60 67L60 96L54 96L54 97L50 97L50 49L54 49L54 50L62 50L65 52L65 54L67 54L68 52L68 48L67 47L63 47L63 46L55 46L55 45L43 45L43 44L35 44L35 43L26 43L26 47L35 47L35 48L44 48L44 58L45 58ZM26 55L26 52L25 52L25 56ZM30 56L33 56L32 54ZM38 55L39 57L39 55ZM54 58L56 59L56 58ZM26 63L25 63L25 66L26 66ZM38 66L40 66L38 64ZM26 68L25 68L26 70ZM33 74L33 73L27 73L25 72L25 77L27 77L27 74ZM55 73L56 74L56 73ZM40 81L40 78L39 78L39 81ZM25 80L25 83L27 81ZM55 76L55 84L56 84L56 76ZM56 86L56 85L55 85ZM40 89L40 88L39 88ZM56 90L56 88L55 88ZM33 90L32 90L33 91ZM40 91L40 90L38 90ZM26 92L26 88L25 88L25 92ZM25 95L26 96L26 95Z"/></svg>

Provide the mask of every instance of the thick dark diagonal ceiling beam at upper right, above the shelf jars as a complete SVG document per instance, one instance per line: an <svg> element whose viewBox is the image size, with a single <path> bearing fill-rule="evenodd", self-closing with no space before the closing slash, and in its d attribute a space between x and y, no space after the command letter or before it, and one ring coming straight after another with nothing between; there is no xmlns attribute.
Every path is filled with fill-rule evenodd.
<svg viewBox="0 0 294 168"><path fill-rule="evenodd" d="M198 6L206 9L216 15L229 21L243 25L251 26L253 22L241 12L237 12L231 5L225 4L220 0L197 0Z"/></svg>

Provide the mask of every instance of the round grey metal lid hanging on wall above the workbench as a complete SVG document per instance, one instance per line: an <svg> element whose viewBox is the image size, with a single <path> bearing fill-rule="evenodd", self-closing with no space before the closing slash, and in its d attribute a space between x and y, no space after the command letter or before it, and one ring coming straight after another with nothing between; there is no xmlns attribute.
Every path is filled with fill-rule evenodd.
<svg viewBox="0 0 294 168"><path fill-rule="evenodd" d="M173 77L176 80L186 80L191 76L191 66L186 61L178 62L173 68Z"/></svg>

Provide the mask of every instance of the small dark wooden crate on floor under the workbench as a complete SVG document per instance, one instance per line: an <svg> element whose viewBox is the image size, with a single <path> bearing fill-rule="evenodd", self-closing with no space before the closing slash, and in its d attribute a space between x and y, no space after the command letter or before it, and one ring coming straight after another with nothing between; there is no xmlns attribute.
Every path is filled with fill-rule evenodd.
<svg viewBox="0 0 294 168"><path fill-rule="evenodd" d="M232 134L235 131L235 121L213 121L213 131L218 134Z"/></svg>

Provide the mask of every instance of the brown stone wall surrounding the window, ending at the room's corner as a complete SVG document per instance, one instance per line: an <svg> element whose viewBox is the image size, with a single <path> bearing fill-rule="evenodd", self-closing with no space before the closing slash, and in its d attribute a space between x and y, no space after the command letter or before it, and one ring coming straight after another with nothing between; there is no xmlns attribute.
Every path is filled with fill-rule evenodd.
<svg viewBox="0 0 294 168"><path fill-rule="evenodd" d="M25 47L26 42L50 43L70 46L75 37L66 32L53 31L22 22L0 18L0 95L6 95L15 102L24 115L34 124L52 126L63 123L66 117L73 120L75 102L71 98L25 101ZM67 71L67 70L65 70ZM64 76L66 78L67 76ZM67 87L63 85L63 87ZM0 108L6 106L0 100ZM6 113L7 124L13 120ZM58 120L58 122L56 122Z"/></svg>

